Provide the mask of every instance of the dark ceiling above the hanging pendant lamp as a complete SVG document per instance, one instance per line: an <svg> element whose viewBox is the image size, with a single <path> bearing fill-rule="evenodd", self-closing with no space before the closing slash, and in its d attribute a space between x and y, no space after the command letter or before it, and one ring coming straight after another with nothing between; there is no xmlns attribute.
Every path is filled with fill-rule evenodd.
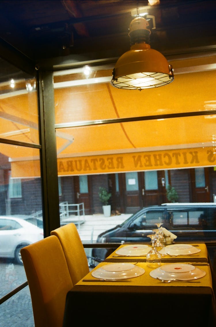
<svg viewBox="0 0 216 327"><path fill-rule="evenodd" d="M151 48L164 55L215 50L214 0L161 0L155 6L147 0L5 0L0 1L0 38L33 60L120 56L130 49L129 24L137 3L151 16Z"/></svg>

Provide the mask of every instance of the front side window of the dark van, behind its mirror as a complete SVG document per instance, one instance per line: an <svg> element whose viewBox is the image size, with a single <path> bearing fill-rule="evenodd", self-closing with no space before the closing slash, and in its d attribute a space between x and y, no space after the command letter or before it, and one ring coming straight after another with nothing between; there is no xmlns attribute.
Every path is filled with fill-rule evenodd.
<svg viewBox="0 0 216 327"><path fill-rule="evenodd" d="M163 211L151 210L151 211L146 211L141 215L139 215L136 219L134 219L132 224L134 225L134 228L136 228L137 230L146 229L147 226L148 228L150 226L157 228L156 226L154 226L154 224L158 222L162 222L162 219L163 219Z"/></svg>

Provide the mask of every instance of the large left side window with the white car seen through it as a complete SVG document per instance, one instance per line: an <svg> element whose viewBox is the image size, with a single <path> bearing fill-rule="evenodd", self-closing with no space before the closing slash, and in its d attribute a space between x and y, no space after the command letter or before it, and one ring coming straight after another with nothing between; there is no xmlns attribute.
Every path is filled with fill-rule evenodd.
<svg viewBox="0 0 216 327"><path fill-rule="evenodd" d="M0 72L0 297L26 281L20 249L44 237L36 79L3 62ZM1 67L3 67L1 66ZM30 87L31 85L31 87ZM14 305L16 303L16 305ZM21 308L21 303L25 307ZM19 321L25 311L26 322ZM28 287L1 304L0 325L34 325Z"/></svg>

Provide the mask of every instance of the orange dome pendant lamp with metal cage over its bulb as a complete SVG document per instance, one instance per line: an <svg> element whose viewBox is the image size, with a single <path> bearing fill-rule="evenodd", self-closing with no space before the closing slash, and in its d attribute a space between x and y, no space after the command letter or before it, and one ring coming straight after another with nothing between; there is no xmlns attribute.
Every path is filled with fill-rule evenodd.
<svg viewBox="0 0 216 327"><path fill-rule="evenodd" d="M143 90L169 84L174 79L173 68L166 58L148 44L151 31L143 17L130 24L131 48L117 60L111 85L119 89Z"/></svg>

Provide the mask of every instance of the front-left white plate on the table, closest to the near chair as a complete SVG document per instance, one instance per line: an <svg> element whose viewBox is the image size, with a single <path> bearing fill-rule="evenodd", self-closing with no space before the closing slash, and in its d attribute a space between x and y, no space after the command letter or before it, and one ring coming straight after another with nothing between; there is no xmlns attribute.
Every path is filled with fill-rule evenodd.
<svg viewBox="0 0 216 327"><path fill-rule="evenodd" d="M129 263L104 265L92 271L92 276L107 280L134 278L143 275L145 270Z"/></svg>

